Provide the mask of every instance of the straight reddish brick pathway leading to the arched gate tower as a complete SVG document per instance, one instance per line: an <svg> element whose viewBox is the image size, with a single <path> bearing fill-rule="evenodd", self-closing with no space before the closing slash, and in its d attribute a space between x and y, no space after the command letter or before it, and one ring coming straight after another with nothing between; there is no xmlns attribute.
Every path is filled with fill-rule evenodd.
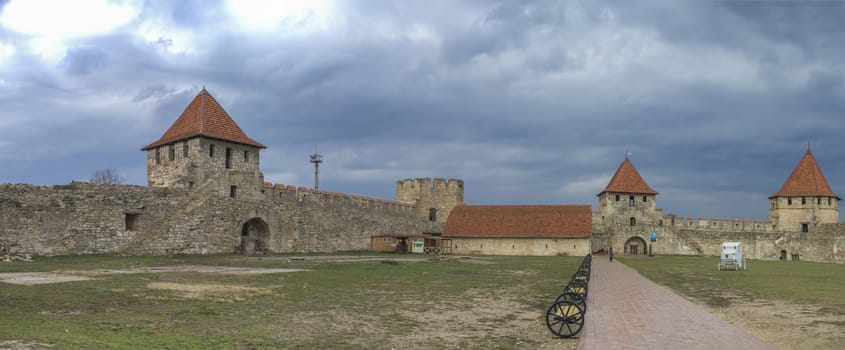
<svg viewBox="0 0 845 350"><path fill-rule="evenodd" d="M774 349L607 256L593 257L579 349Z"/></svg>

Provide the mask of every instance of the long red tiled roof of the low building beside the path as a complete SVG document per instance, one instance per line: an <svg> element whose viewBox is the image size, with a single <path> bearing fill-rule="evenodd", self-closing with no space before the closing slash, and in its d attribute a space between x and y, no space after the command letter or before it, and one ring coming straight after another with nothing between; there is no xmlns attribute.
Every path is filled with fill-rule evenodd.
<svg viewBox="0 0 845 350"><path fill-rule="evenodd" d="M444 237L586 238L593 234L590 205L458 205Z"/></svg>

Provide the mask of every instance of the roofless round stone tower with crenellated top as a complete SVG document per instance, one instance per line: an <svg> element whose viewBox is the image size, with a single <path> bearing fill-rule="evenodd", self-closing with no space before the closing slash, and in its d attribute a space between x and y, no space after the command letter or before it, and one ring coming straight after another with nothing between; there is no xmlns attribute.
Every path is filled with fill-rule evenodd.
<svg viewBox="0 0 845 350"><path fill-rule="evenodd" d="M396 181L396 201L416 206L417 215L445 223L456 205L464 202L463 180L418 178Z"/></svg>

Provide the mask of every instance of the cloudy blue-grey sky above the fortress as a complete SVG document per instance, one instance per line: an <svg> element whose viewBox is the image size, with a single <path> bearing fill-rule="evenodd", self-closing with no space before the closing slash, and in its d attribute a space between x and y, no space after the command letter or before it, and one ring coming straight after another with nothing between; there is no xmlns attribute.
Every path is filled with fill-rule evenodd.
<svg viewBox="0 0 845 350"><path fill-rule="evenodd" d="M0 182L146 184L203 86L276 183L595 207L630 150L666 213L766 219L811 142L845 195L839 1L0 0Z"/></svg>

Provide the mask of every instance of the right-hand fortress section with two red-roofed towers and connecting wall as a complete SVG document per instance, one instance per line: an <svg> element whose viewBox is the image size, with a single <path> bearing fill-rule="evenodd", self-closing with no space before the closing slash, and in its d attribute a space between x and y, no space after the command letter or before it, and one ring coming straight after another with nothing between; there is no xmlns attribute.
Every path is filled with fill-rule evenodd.
<svg viewBox="0 0 845 350"><path fill-rule="evenodd" d="M718 256L722 243L742 242L749 258L845 262L839 197L809 148L769 198L770 220L664 215L657 207L657 194L626 158L598 195L591 249Z"/></svg>

